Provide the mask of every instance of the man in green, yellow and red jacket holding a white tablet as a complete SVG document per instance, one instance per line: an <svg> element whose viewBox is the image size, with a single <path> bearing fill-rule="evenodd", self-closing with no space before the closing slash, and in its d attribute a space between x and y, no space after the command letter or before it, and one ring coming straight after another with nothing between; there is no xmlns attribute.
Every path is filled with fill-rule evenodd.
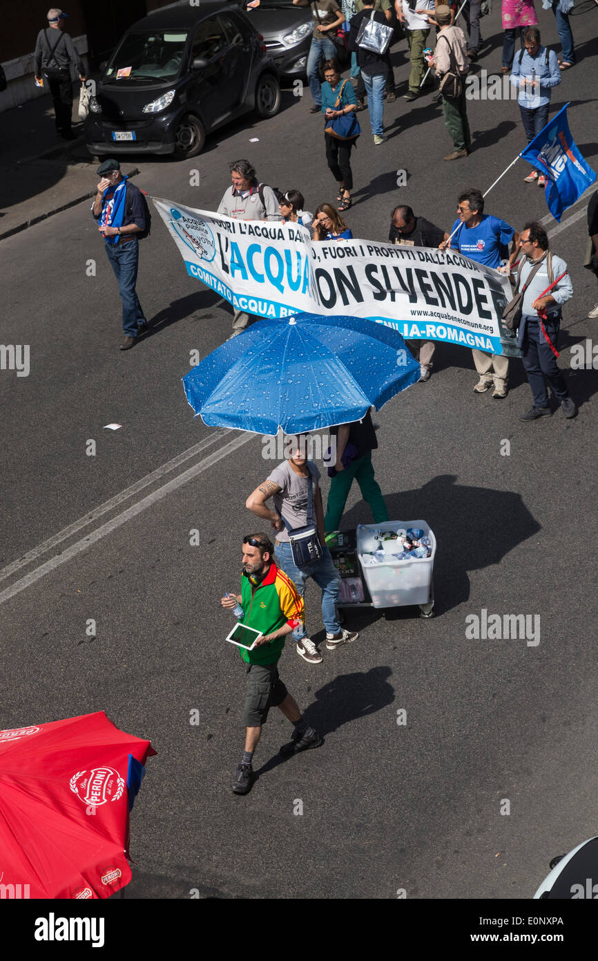
<svg viewBox="0 0 598 961"><path fill-rule="evenodd" d="M241 624L261 630L252 651L239 648L246 663L248 688L243 719L245 750L232 782L234 794L248 794L254 780L251 762L262 726L271 707L278 707L295 730L291 741L280 749L285 756L317 748L322 744L318 731L302 717L292 694L278 677L276 664L284 639L303 619L303 602L293 581L275 565L274 544L267 534L248 534L243 538L243 575L241 594L222 598L223 607L243 607Z"/></svg>

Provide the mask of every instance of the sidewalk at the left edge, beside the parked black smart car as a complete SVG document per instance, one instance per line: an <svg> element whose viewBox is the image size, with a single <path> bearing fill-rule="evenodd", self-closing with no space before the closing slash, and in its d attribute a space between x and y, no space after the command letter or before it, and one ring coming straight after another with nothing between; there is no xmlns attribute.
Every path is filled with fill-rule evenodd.
<svg viewBox="0 0 598 961"><path fill-rule="evenodd" d="M94 196L100 161L84 145L78 107L76 97L76 140L57 134L49 94L0 113L0 240ZM139 172L128 166L125 173Z"/></svg>

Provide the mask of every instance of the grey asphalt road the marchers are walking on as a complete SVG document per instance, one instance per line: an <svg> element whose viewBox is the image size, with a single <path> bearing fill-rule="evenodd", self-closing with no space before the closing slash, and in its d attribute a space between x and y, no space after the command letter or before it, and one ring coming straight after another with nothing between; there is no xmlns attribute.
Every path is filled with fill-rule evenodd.
<svg viewBox="0 0 598 961"><path fill-rule="evenodd" d="M572 20L580 62L563 74L551 111L570 102L571 131L594 166L597 15L585 3ZM483 23L492 51L479 67L495 72L499 5ZM540 26L556 44L552 15L540 11ZM394 60L402 95L402 47ZM297 98L289 88L273 120L226 129L199 158L132 158L136 183L215 209L228 161L249 157L260 180L299 187L313 210L334 184L310 103L307 89ZM389 141L374 148L362 136L353 155L355 236L386 239L399 202L448 228L460 190L485 190L514 159L523 145L516 102L470 101L468 113L475 150L443 163L450 141L429 96L413 106L399 96L386 109ZM367 130L368 114L360 121ZM399 169L408 173L400 189ZM194 170L199 186L190 185ZM517 163L486 208L519 229L547 217L526 172ZM595 337L584 208L565 213L552 244L575 289L565 369L571 345ZM403 889L408 899L530 898L552 856L596 833L597 372L566 371L575 420L559 411L522 424L531 394L516 362L497 403L472 392L470 353L441 346L431 381L375 414L376 477L391 517L423 517L437 536L437 616L355 612L358 641L335 653L323 646L319 666L287 645L281 676L325 742L281 763L290 730L273 711L254 759L259 779L238 798L229 782L245 674L225 650L231 622L219 599L239 582L242 536L259 527L245 499L272 462L260 437L194 421L180 384L190 351L204 357L227 336L230 310L185 275L157 214L137 284L152 331L124 354L118 291L85 204L3 241L2 255L0 339L30 345L31 372L0 374L0 726L104 709L152 739L158 753L132 812L137 867L127 897L392 899ZM112 422L122 429L105 430ZM89 439L95 456L85 454ZM510 456L500 453L505 439ZM325 498L327 480L323 488ZM369 520L353 490L343 527ZM190 545L194 529L199 546ZM307 601L319 642L318 592ZM482 608L538 615L539 644L467 639L466 617Z"/></svg>

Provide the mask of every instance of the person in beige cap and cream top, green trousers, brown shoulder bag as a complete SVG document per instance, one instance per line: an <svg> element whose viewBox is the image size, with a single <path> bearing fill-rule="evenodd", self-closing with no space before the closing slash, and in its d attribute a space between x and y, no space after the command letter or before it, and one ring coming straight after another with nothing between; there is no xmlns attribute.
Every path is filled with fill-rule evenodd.
<svg viewBox="0 0 598 961"><path fill-rule="evenodd" d="M442 81L443 74L451 70L456 71L462 81L462 89L458 97L449 99L443 95L444 124L454 144L453 150L444 160L459 160L460 157L467 156L471 144L466 102L466 73L469 69L466 35L461 27L451 26L449 7L444 5L437 7L434 20L438 24L440 34L434 48L436 76Z"/></svg>

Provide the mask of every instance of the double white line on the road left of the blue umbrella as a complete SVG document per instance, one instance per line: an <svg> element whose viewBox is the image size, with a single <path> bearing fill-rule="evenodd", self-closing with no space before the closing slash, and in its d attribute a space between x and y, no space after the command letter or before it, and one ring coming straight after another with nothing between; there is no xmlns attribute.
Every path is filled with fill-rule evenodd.
<svg viewBox="0 0 598 961"><path fill-rule="evenodd" d="M218 431L218 435L223 434L225 432L228 432L228 431ZM208 467L212 467L213 464L218 463L219 460L222 460L224 457L228 456L229 454L232 454L233 451L236 451L239 447L242 447L243 444L247 444L247 442L250 441L251 438L254 436L255 434L252 434L252 433L242 433L240 436L235 437L233 440L225 444L225 446L222 447L219 451L213 454L209 454L206 457L203 457L203 460L200 460L198 464L195 464L193 467L189 467L188 470L184 471L182 474L179 474L179 477L174 478L173 480L169 480L168 483L165 483L162 487L158 487L153 494L149 494L147 497L144 497L143 500L138 501L137 504L133 504L131 507L123 511L121 514L118 514L116 517L113 517L112 520L108 521L107 524L102 525L102 527L97 528L96 530L92 530L91 533L87 534L82 540L77 541L76 544L73 544L71 547L67 548L66 551L62 551L61 554L56 554L54 557L51 557L49 560L47 560L44 564L41 564L40 567L37 567L36 570L32 571L30 574L27 574L24 578L21 578L20 580L16 580L11 587L7 587L4 591L2 591L2 593L0 593L0 604L4 604L5 601L9 601L12 597L14 597L15 594L19 594L20 591L23 591L25 590L26 587L30 587L32 584L35 584L37 580L43 578L46 574L49 574L51 571L56 570L56 568L60 567L61 564L65 564L67 561L77 556L77 554L81 554L82 551L85 551L92 544L97 543L97 541L101 540L103 537L106 537L107 534L111 533L113 530L117 530L117 528L120 528L123 524L126 524L127 521L132 520L133 517L136 517L137 514L140 514L147 507L151 507L152 505L156 504L158 501L161 501L162 498L166 497L168 494L171 494L174 490L177 490L179 487L182 486L182 484L186 483L187 480L193 480L193 478L197 477L198 474L202 474L203 471L207 470ZM202 441L203 446L205 447L207 442L213 443L216 437L217 437L216 434L210 434L210 438L212 439L210 440L210 438L206 438L205 441ZM197 447L200 447L200 445L197 445ZM190 451L196 452L197 449L190 448ZM180 458L188 459L189 456L192 456L192 455L189 453L189 451L187 451L185 452L185 454L180 455L179 458L175 458L175 460ZM146 486L147 483L151 482L150 480L148 480L148 478L158 476L159 473L160 472L163 473L166 468L168 468L169 470L172 470L172 464L173 464L173 461L169 461L168 464L165 464L163 467L158 468L158 470L155 471L154 475L148 475L147 478L144 478L143 480L139 480L137 483L141 484L142 486ZM110 504L113 502L119 503L119 499L122 500L124 496L130 497L132 488L135 486L136 485L133 484L132 487L129 487L127 489L127 491L123 491L122 494L117 495L116 498L112 499L112 502L108 501L107 504ZM106 510L104 510L103 508L106 508L107 510L109 509L107 505L102 505L102 507L99 507L97 509L98 511L102 511L103 513L105 513ZM89 523L90 516L91 515L87 515L81 522L77 522L77 523L80 524L81 527L84 527L85 524ZM97 514L94 513L93 517L95 518L96 516ZM77 525L72 525L71 528L77 529ZM66 528L65 530L68 531L71 529ZM36 551L41 552L41 548L44 548L44 551L41 553L45 553L45 551L48 550L48 547L47 547L48 544L50 544L51 542L55 544L59 543L60 540L64 540L64 538L67 536L68 536L68 533L61 531L60 534L57 534L55 538L51 539L51 541L46 541L45 545L42 544L40 545L40 548L36 548ZM32 556L34 554L35 554L34 551L30 552L30 555ZM25 563L25 558L21 558L21 561L17 561L16 563L17 564ZM8 568L6 568L5 570L8 570Z"/></svg>

